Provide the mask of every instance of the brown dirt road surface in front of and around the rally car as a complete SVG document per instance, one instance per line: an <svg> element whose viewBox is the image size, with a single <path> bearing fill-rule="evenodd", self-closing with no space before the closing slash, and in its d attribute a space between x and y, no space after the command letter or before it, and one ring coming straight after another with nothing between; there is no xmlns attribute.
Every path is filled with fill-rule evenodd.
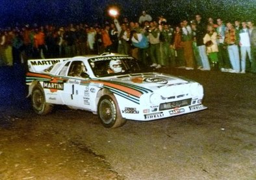
<svg viewBox="0 0 256 180"><path fill-rule="evenodd" d="M256 179L256 75L162 71L203 84L209 109L106 129L86 111L2 105L0 179Z"/></svg>

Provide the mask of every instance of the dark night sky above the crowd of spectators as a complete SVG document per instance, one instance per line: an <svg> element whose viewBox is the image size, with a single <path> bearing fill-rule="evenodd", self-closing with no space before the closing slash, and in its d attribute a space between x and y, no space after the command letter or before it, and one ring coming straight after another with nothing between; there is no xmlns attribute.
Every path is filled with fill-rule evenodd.
<svg viewBox="0 0 256 180"><path fill-rule="evenodd" d="M194 14L222 17L224 20L256 20L255 0L0 0L0 27L37 23L38 25L68 23L103 24L108 20L110 6L120 9L121 17L138 21L142 10L156 19L164 15L171 24L191 20Z"/></svg>

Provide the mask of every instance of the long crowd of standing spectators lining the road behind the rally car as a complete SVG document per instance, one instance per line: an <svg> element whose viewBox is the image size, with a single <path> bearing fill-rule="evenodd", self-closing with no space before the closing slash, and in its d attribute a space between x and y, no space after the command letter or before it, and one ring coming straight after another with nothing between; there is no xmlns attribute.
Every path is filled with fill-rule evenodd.
<svg viewBox="0 0 256 180"><path fill-rule="evenodd" d="M0 29L0 65L28 59L69 58L86 54L129 54L155 69L256 73L256 28L251 21L227 21L199 14L172 26L162 16L156 21L142 12L138 21L114 17L103 26L57 27L25 25ZM246 61L249 60L249 61Z"/></svg>

